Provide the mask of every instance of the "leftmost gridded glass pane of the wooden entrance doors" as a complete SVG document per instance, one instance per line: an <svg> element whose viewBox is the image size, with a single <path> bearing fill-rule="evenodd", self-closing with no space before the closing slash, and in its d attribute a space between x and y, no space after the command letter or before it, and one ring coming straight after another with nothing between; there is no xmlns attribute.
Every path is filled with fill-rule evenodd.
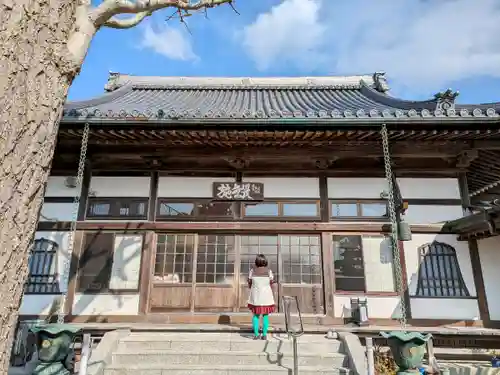
<svg viewBox="0 0 500 375"><path fill-rule="evenodd" d="M158 235L154 280L169 284L191 283L195 240L195 234Z"/></svg>

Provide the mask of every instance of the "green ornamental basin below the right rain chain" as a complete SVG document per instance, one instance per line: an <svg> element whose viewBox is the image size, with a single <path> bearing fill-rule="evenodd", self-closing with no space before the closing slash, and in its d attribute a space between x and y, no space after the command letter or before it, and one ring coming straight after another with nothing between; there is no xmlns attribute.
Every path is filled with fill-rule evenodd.
<svg viewBox="0 0 500 375"><path fill-rule="evenodd" d="M431 334L420 332L380 332L380 335L387 339L391 348L394 362L399 369L397 375L420 374L419 368L425 354L425 344L432 337Z"/></svg>

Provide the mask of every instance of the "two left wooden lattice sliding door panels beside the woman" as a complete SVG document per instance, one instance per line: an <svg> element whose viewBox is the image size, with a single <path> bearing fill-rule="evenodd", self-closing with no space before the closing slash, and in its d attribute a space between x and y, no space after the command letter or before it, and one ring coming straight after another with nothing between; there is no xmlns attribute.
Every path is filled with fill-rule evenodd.
<svg viewBox="0 0 500 375"><path fill-rule="evenodd" d="M151 312L230 312L235 309L234 236L157 236Z"/></svg>

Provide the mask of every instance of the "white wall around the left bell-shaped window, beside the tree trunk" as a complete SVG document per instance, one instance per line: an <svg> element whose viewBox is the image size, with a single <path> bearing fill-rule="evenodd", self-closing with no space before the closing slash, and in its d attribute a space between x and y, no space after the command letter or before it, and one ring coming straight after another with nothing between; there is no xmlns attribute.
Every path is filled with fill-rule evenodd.
<svg viewBox="0 0 500 375"><path fill-rule="evenodd" d="M35 239L45 238L56 242L58 247L57 254L57 272L59 275L63 272L65 261L69 258L69 232L36 232ZM65 291L67 285L62 284L59 279L59 289ZM19 313L21 315L44 315L47 314L53 304L57 301L59 295L50 294L26 294L23 296Z"/></svg>

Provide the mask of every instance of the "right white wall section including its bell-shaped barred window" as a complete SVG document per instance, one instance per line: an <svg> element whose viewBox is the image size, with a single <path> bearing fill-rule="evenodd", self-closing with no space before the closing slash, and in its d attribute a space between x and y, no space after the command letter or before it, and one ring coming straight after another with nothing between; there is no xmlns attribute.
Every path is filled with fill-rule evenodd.
<svg viewBox="0 0 500 375"><path fill-rule="evenodd" d="M418 239L424 241L418 243ZM439 234L414 235L404 244L409 271L405 293L410 297L412 316L409 324L432 327L446 320L450 325L473 325L479 311L467 244L457 243L453 235ZM401 301L392 318L400 316Z"/></svg>

